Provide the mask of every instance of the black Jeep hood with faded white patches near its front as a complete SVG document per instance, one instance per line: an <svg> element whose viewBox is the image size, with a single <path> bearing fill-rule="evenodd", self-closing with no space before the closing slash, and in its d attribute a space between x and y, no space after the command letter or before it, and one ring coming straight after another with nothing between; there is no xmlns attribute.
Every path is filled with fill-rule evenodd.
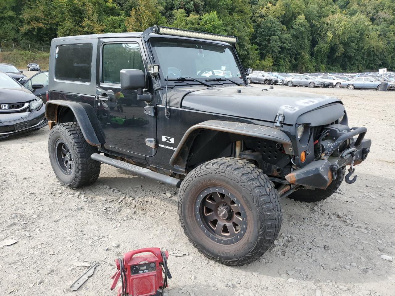
<svg viewBox="0 0 395 296"><path fill-rule="evenodd" d="M178 90L185 90L186 95L182 99L184 109L270 122L275 122L278 112L282 112L285 116L284 124L291 125L295 124L301 114L330 103L341 103L335 97L294 90L264 89L252 86L224 86Z"/></svg>

